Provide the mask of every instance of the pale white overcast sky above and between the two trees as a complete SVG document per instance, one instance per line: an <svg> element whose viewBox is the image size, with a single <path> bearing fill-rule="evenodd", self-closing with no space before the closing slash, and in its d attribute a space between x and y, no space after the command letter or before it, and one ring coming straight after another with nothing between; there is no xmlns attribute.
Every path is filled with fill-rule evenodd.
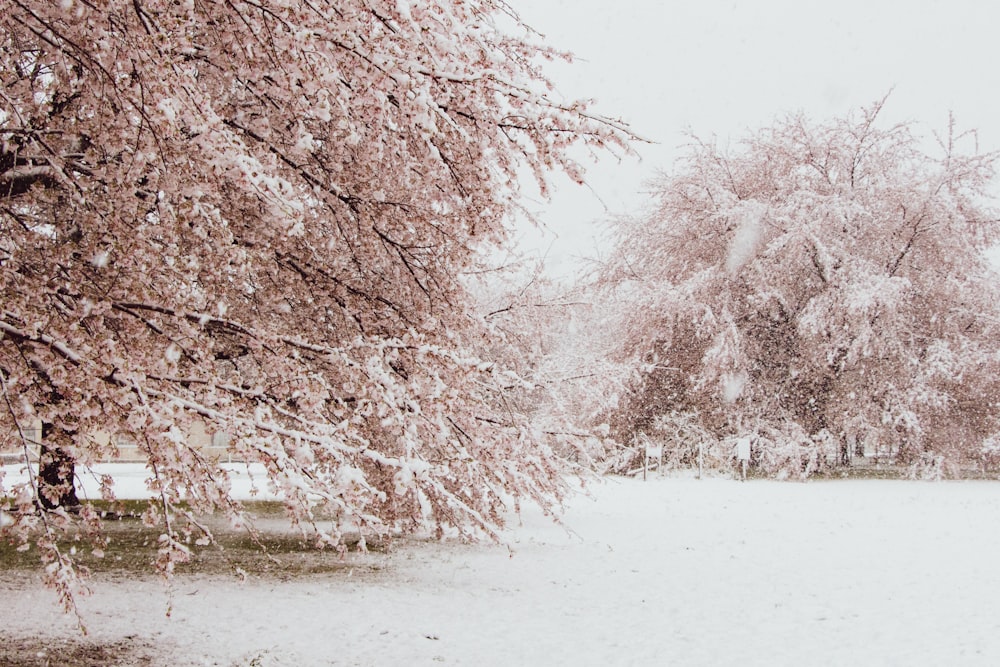
<svg viewBox="0 0 1000 667"><path fill-rule="evenodd" d="M890 90L887 121L930 133L953 111L1000 149L1000 5L988 0L511 0L526 23L578 62L551 68L568 98L628 121L657 143L641 161L603 159L590 189L561 180L549 227L524 243L557 275L600 253L595 220L635 210L646 179L669 168L683 132L734 143L776 115L814 120L871 104Z"/></svg>

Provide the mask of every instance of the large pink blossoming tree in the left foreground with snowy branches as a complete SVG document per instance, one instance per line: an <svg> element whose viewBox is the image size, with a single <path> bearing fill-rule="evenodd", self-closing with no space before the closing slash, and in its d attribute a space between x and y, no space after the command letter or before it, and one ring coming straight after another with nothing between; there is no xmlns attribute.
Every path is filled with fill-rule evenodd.
<svg viewBox="0 0 1000 667"><path fill-rule="evenodd" d="M28 459L41 422L47 471L0 487L0 525L52 581L59 530L99 528L66 504L114 454L101 432L148 462L167 572L200 513L241 514L196 420L303 525L490 533L504 498L559 495L472 353L463 275L525 171L544 193L581 178L569 147L630 135L559 101L541 68L568 56L502 0L0 0L0 21L0 430Z"/></svg>

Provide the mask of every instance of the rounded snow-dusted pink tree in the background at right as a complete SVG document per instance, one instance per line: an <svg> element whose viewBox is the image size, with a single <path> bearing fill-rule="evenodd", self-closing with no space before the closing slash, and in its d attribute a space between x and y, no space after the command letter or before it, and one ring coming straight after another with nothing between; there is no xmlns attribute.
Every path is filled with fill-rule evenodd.
<svg viewBox="0 0 1000 667"><path fill-rule="evenodd" d="M781 119L736 150L695 141L648 214L615 221L602 280L636 374L616 432L698 415L755 462L808 472L879 450L940 470L997 429L993 154L940 155L884 100Z"/></svg>

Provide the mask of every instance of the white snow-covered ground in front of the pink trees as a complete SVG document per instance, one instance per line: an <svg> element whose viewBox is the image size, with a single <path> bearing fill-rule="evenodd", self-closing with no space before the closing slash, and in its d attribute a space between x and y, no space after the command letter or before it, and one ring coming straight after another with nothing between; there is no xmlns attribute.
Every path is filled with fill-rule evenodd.
<svg viewBox="0 0 1000 667"><path fill-rule="evenodd" d="M571 530L525 511L509 549L401 541L331 575L180 575L171 596L101 579L86 641L164 666L1000 664L1000 483L591 491ZM0 575L0 638L79 638L24 577Z"/></svg>

